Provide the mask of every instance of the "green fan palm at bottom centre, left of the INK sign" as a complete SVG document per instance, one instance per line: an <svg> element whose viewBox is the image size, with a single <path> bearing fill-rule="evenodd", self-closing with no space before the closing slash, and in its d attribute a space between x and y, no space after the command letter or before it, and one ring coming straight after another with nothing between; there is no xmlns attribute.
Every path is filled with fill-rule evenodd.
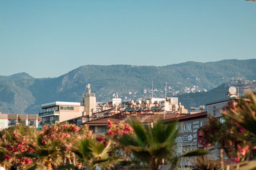
<svg viewBox="0 0 256 170"><path fill-rule="evenodd" d="M124 134L114 140L130 150L138 161L148 165L150 170L158 170L158 165L160 161L162 162L162 159L174 162L177 165L178 157L174 156L174 139L177 137L179 128L176 129L176 122L162 124L161 121L158 121L153 128L148 128L148 130L131 119L129 124L133 129L133 135ZM194 151L181 155L181 157L198 154L199 151Z"/></svg>

